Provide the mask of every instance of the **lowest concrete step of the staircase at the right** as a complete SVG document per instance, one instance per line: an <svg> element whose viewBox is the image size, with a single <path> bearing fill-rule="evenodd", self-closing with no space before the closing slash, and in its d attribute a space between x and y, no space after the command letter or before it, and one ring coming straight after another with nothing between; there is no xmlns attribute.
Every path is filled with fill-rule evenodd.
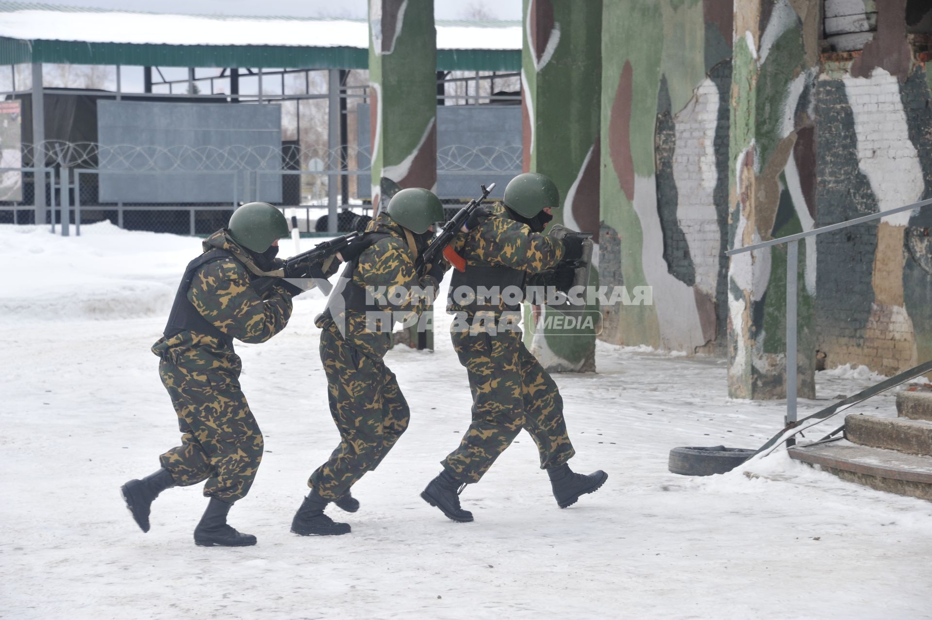
<svg viewBox="0 0 932 620"><path fill-rule="evenodd" d="M789 456L843 480L932 502L932 457L858 446L845 440L789 448Z"/></svg>

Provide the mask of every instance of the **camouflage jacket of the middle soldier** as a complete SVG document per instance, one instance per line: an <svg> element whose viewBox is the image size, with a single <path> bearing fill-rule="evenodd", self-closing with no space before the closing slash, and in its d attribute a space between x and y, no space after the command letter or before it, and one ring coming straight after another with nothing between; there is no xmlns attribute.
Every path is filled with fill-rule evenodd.
<svg viewBox="0 0 932 620"><path fill-rule="evenodd" d="M369 222L366 232L382 232L390 236L363 251L353 271L352 281L363 288L383 292L384 296L378 298L386 303L379 301L377 306L379 310L391 312L395 319L401 319L411 312L420 316L431 307L438 282L428 276L418 277L414 266L417 255L408 246L404 228L383 212ZM419 295L416 287L429 291L430 300L427 296ZM325 329L341 324L343 329L340 331L347 342L370 357L380 359L389 350L391 329L388 325L384 330L373 330L373 325L366 323L365 312L336 310L334 307L331 307L331 312L332 318L322 314L315 324Z"/></svg>

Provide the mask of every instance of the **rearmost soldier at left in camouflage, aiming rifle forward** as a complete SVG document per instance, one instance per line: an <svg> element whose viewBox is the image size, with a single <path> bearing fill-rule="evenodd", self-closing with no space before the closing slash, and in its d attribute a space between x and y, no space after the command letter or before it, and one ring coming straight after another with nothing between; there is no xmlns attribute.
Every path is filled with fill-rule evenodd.
<svg viewBox="0 0 932 620"><path fill-rule="evenodd" d="M152 347L178 414L182 444L159 457L158 472L122 487L143 531L149 530L150 506L159 492L206 480L210 503L194 531L195 542L255 544L254 536L226 524L230 506L253 485L263 448L240 390L240 356L233 339L265 342L288 323L292 296L302 289L281 279L283 263L274 258L279 238L287 234L288 223L275 207L243 205L228 228L203 242L204 254L185 270L165 334Z"/></svg>

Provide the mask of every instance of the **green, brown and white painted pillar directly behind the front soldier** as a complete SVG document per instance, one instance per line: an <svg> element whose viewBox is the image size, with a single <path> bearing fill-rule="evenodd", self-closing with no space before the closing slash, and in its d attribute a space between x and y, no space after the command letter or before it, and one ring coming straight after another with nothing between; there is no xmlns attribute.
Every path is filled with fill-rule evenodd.
<svg viewBox="0 0 932 620"><path fill-rule="evenodd" d="M596 243L601 19L601 0L524 0L524 170L546 174L559 187L563 208L555 223L593 233ZM590 283L597 283L595 274ZM577 316L581 324L569 329L553 327L566 325L558 310L528 310L526 339L541 364L551 371L595 370L597 310Z"/></svg>

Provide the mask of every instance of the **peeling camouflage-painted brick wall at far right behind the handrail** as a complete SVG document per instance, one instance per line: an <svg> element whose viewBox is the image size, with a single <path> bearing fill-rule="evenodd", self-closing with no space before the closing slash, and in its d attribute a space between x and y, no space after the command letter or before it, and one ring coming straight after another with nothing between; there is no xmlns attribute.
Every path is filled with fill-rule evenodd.
<svg viewBox="0 0 932 620"><path fill-rule="evenodd" d="M932 111L925 74L917 68L904 85L895 78L872 81L849 80L847 85L842 79L818 81L817 226L930 195ZM875 192L881 194L883 204ZM880 227L901 229L907 219L907 247L896 243L878 256ZM923 224L932 224L932 213L903 216L883 225L871 222L817 238L818 348L826 353L829 367L867 365L893 375L932 355L932 274L908 251ZM904 253L905 262L894 277L903 278L903 298L884 302L874 287L889 282L875 274L879 269L875 263L900 260L892 254L898 252Z"/></svg>

